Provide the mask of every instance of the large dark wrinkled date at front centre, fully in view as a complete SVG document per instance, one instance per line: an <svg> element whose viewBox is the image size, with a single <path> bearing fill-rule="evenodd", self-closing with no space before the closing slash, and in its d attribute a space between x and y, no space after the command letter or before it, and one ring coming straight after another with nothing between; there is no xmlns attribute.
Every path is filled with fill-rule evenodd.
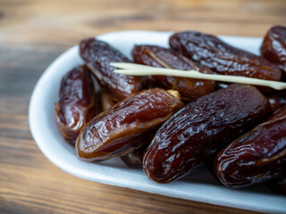
<svg viewBox="0 0 286 214"><path fill-rule="evenodd" d="M254 86L234 84L202 96L159 128L144 154L143 169L158 183L184 177L270 112Z"/></svg>

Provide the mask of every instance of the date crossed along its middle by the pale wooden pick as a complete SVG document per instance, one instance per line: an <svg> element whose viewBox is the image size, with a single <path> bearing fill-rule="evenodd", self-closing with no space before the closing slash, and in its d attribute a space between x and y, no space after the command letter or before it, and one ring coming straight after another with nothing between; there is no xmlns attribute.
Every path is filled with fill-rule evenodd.
<svg viewBox="0 0 286 214"><path fill-rule="evenodd" d="M156 45L135 45L132 50L134 62L158 68L169 68L176 70L198 70L202 73L212 71L198 67L185 56ZM157 84L165 89L178 90L183 99L194 100L200 96L214 91L214 81L178 78L172 76L153 76Z"/></svg>

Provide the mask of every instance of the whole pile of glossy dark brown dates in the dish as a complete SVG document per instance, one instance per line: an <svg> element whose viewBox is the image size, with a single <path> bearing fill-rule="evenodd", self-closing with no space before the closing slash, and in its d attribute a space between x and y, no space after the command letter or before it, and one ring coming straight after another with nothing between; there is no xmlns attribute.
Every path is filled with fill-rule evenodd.
<svg viewBox="0 0 286 214"><path fill-rule="evenodd" d="M270 29L261 56L184 31L170 48L135 45L131 61L107 43L80 42L85 64L64 75L55 119L82 161L120 156L157 183L203 165L226 186L265 182L286 193L286 91L171 76L126 76L111 62L281 81L286 28ZM100 86L95 90L95 85Z"/></svg>

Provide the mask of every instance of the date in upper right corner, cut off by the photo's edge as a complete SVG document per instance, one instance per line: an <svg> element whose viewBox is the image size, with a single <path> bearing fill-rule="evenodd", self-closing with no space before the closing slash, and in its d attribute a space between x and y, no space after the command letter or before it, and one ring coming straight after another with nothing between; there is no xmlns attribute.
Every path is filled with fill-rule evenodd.
<svg viewBox="0 0 286 214"><path fill-rule="evenodd" d="M286 28L274 26L269 29L261 45L261 54L269 61L279 64L281 70L286 72Z"/></svg>

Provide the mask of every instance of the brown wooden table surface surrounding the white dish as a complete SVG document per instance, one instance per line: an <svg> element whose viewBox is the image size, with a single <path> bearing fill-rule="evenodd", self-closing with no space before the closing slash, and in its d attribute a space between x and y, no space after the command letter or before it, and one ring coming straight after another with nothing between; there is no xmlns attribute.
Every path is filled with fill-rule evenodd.
<svg viewBox="0 0 286 214"><path fill-rule="evenodd" d="M126 29L263 37L285 0L1 0L0 213L252 213L73 177L39 151L29 98L46 67L80 39Z"/></svg>

